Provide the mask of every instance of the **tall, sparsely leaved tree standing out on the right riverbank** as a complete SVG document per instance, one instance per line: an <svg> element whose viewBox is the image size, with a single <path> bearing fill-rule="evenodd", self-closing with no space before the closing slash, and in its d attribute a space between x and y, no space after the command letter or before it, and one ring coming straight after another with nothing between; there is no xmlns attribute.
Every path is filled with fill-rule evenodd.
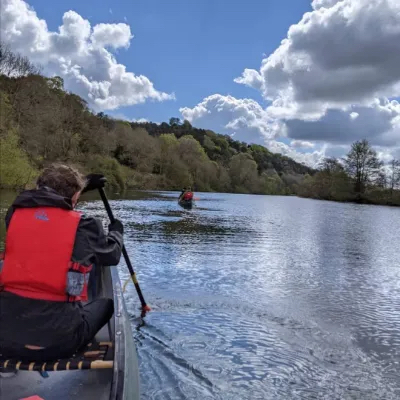
<svg viewBox="0 0 400 400"><path fill-rule="evenodd" d="M383 165L366 139L351 145L344 163L346 172L353 179L357 194L364 193L367 186L376 181Z"/></svg>

